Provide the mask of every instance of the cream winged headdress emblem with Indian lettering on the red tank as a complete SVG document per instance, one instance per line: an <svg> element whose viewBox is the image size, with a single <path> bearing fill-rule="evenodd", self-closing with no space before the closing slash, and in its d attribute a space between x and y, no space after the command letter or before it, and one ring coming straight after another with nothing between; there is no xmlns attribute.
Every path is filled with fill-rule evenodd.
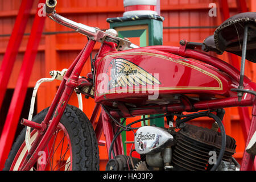
<svg viewBox="0 0 256 182"><path fill-rule="evenodd" d="M161 84L160 81L152 76L150 73L139 67L138 65L131 63L125 59L113 59L110 62L109 71L110 81L109 88L115 88L118 86L139 86Z"/></svg>

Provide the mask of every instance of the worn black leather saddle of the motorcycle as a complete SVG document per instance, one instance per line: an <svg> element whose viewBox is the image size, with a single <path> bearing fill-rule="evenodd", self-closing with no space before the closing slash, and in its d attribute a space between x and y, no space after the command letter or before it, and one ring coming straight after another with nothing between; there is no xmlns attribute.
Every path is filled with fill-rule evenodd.
<svg viewBox="0 0 256 182"><path fill-rule="evenodd" d="M204 40L202 49L222 54L224 51L242 55L243 34L248 28L246 59L256 63L256 12L241 13L225 20L214 35Z"/></svg>

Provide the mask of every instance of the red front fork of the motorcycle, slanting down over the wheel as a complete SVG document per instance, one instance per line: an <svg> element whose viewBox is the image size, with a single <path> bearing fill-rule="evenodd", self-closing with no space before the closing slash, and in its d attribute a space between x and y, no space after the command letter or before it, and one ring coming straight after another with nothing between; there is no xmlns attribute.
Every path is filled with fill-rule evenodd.
<svg viewBox="0 0 256 182"><path fill-rule="evenodd" d="M47 146L49 140L51 139L54 131L57 128L57 125L60 122L65 107L68 104L69 98L73 93L73 90L78 86L79 75L82 71L82 68L84 67L84 64L88 60L95 43L96 42L94 40L89 40L86 44L86 47L80 52L79 56L77 56L71 67L69 67L67 73L63 78L63 81L61 81L56 96L52 101L52 105L49 107L46 118L44 118L44 121L41 124L42 128L43 126L48 127L45 131L38 132L38 136L32 144L31 149L27 154L27 157L20 168L21 170L30 170L32 166L34 166L34 164L36 163L39 152L43 151L44 148ZM55 113L53 114L54 110Z"/></svg>

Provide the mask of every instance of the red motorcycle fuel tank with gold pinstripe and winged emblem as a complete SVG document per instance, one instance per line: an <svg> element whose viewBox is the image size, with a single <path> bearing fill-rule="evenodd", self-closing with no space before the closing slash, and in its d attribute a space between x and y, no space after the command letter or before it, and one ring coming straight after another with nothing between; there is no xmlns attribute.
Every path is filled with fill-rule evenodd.
<svg viewBox="0 0 256 182"><path fill-rule="evenodd" d="M208 64L150 48L109 53L96 61L96 71L96 102L166 104L175 94L226 97L234 85Z"/></svg>

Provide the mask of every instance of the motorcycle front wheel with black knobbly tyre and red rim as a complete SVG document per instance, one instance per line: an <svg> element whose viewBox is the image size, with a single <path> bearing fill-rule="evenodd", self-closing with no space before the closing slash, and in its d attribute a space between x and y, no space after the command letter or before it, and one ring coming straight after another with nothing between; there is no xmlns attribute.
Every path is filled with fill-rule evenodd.
<svg viewBox="0 0 256 182"><path fill-rule="evenodd" d="M32 121L41 123L48 109L35 115ZM5 171L17 171L26 158L26 127L22 130L6 160ZM31 143L38 133L31 131ZM38 162L31 170L93 171L99 169L98 144L93 127L86 115L77 107L67 105L60 123Z"/></svg>

